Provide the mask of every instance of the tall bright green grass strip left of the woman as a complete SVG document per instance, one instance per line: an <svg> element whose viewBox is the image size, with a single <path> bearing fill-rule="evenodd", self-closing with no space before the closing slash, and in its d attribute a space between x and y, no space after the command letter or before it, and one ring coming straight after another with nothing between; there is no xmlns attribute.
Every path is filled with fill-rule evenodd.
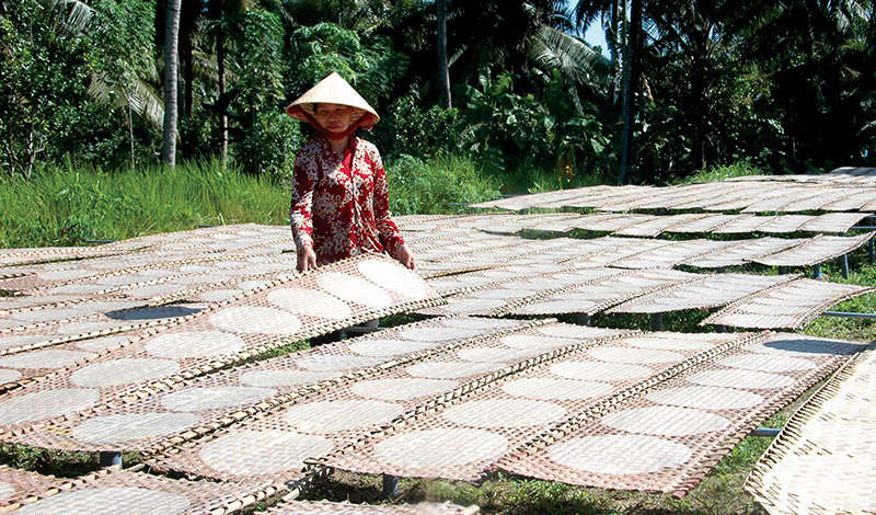
<svg viewBox="0 0 876 515"><path fill-rule="evenodd" d="M288 193L216 161L105 172L66 163L34 179L0 180L0 247L81 245L88 240L238 222L284 224Z"/></svg>

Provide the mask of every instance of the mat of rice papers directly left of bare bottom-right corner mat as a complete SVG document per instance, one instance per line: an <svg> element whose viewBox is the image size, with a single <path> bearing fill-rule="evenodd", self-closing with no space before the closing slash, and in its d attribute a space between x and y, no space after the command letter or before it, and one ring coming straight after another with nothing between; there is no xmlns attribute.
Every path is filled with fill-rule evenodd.
<svg viewBox="0 0 876 515"><path fill-rule="evenodd" d="M568 484L683 496L751 430L862 347L793 334L760 336L545 432L498 468Z"/></svg>

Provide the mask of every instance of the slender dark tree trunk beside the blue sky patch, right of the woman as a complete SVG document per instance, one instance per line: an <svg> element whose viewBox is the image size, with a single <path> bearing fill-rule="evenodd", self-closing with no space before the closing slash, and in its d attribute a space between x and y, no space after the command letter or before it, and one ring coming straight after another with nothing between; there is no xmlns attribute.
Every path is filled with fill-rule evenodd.
<svg viewBox="0 0 876 515"><path fill-rule="evenodd" d="M638 58L638 45L642 35L642 1L632 0L630 2L630 25L626 31L626 44L624 46L624 67L622 84L622 117L623 133L621 135L621 170L618 173L618 182L625 184L633 170L633 128L635 124L635 77L636 59Z"/></svg>

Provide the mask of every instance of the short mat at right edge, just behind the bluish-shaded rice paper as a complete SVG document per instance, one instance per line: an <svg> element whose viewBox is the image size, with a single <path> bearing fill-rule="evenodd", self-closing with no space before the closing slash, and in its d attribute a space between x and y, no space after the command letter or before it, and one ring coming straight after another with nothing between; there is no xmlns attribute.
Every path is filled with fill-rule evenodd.
<svg viewBox="0 0 876 515"><path fill-rule="evenodd" d="M744 297L700 322L734 328L803 329L843 300L876 288L796 279Z"/></svg>

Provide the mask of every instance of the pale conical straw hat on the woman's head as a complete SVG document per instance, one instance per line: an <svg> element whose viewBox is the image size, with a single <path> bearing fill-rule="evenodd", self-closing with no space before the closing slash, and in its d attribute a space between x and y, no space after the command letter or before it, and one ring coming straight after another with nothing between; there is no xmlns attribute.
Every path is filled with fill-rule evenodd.
<svg viewBox="0 0 876 515"><path fill-rule="evenodd" d="M316 104L341 104L353 107L350 126L366 128L380 121L380 116L356 90L337 72L332 72L286 107L286 114L301 122L313 123ZM365 119L360 119L365 117Z"/></svg>

